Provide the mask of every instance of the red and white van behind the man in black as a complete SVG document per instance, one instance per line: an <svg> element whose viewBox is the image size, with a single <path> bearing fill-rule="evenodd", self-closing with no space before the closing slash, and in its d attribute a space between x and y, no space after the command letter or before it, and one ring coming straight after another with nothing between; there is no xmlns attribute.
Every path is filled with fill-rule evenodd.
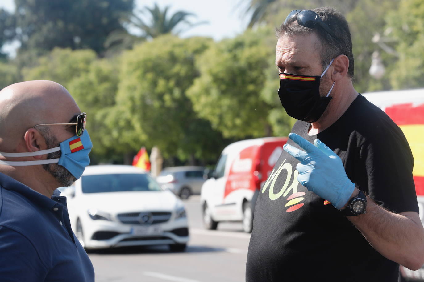
<svg viewBox="0 0 424 282"><path fill-rule="evenodd" d="M221 153L212 177L201 189L206 229L220 221L242 221L252 231L257 194L277 162L287 137L265 137L234 142Z"/></svg>

